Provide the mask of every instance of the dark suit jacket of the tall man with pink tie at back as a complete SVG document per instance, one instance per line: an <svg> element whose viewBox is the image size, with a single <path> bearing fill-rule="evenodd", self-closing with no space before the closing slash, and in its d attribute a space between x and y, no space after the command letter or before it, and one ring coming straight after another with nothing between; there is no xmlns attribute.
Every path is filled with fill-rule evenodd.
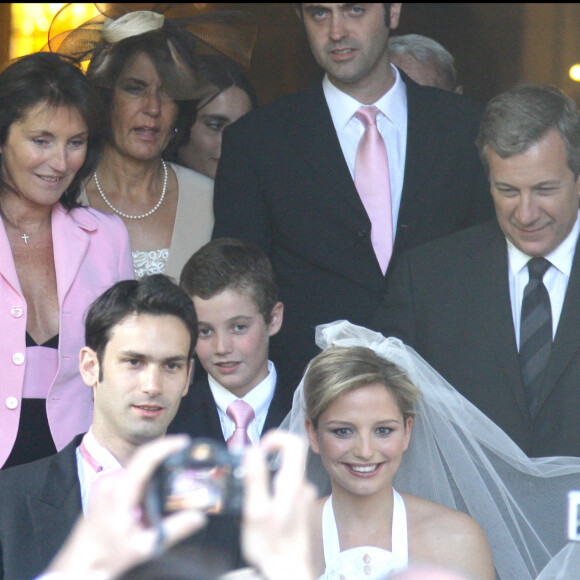
<svg viewBox="0 0 580 580"><path fill-rule="evenodd" d="M474 146L480 106L403 79L407 153L392 263L407 248L493 216ZM214 210L214 238L249 239L272 261L285 310L270 357L288 409L317 352L316 325L348 319L366 326L385 292L370 220L320 83L226 129Z"/></svg>

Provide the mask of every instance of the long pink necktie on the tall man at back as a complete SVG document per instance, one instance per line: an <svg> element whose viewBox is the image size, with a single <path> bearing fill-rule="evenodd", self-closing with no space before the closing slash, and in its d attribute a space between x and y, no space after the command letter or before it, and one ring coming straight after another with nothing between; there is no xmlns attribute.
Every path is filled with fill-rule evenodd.
<svg viewBox="0 0 580 580"><path fill-rule="evenodd" d="M377 128L376 107L364 106L355 117L365 126L356 151L354 184L371 220L371 242L383 274L393 253L393 214L389 159Z"/></svg>

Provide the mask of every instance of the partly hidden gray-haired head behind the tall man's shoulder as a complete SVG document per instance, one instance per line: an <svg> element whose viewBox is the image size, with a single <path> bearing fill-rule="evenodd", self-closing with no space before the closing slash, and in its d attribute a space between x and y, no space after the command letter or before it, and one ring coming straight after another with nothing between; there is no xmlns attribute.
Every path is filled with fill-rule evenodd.
<svg viewBox="0 0 580 580"><path fill-rule="evenodd" d="M432 38L420 34L391 36L389 59L420 85L463 93L457 83L455 58Z"/></svg>

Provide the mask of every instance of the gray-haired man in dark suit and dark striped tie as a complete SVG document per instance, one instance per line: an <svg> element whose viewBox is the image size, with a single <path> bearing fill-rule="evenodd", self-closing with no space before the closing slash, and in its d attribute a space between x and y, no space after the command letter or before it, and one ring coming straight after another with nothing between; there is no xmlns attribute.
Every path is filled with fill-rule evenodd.
<svg viewBox="0 0 580 580"><path fill-rule="evenodd" d="M496 219L404 255L374 326L529 456L580 456L580 114L555 87L516 87L477 146Z"/></svg>

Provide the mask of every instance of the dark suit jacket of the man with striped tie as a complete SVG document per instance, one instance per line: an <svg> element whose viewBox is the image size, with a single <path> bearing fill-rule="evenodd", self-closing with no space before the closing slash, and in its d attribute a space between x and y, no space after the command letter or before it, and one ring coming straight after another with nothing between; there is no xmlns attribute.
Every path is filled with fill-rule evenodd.
<svg viewBox="0 0 580 580"><path fill-rule="evenodd" d="M580 456L580 253L536 415L526 404L496 220L401 257L373 327L414 347L528 455Z"/></svg>

